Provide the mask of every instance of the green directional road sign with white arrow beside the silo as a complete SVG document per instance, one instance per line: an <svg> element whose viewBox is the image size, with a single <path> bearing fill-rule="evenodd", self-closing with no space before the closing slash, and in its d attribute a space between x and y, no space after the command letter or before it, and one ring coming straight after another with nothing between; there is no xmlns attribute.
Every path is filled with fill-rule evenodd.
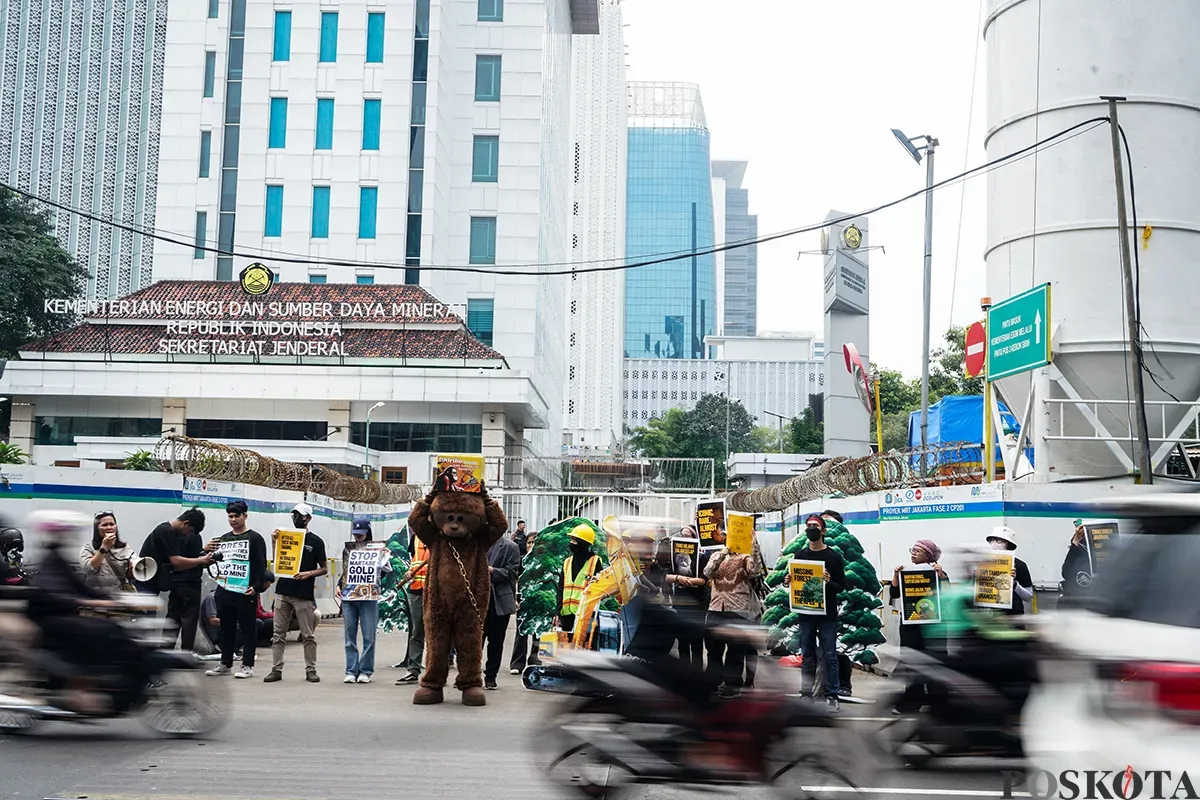
<svg viewBox="0 0 1200 800"><path fill-rule="evenodd" d="M1044 367L1050 359L1049 283L988 311L988 380Z"/></svg>

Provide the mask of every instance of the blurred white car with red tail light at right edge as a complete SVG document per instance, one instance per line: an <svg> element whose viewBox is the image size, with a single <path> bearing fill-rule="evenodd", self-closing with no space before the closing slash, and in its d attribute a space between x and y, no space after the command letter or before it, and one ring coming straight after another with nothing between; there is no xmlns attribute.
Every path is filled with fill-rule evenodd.
<svg viewBox="0 0 1200 800"><path fill-rule="evenodd" d="M1168 770L1169 798L1181 772L1200 777L1200 495L1105 503L1104 512L1122 517L1122 542L1085 608L1039 625L1052 655L1025 705L1025 751L1055 776Z"/></svg>

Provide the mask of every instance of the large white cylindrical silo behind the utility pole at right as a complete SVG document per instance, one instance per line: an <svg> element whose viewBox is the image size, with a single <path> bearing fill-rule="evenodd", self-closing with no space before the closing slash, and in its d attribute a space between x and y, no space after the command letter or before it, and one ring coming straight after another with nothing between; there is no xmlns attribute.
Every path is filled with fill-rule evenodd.
<svg viewBox="0 0 1200 800"><path fill-rule="evenodd" d="M1200 1L989 0L988 12L989 161L1106 116L1103 95L1127 97L1120 121L1133 157L1139 228L1132 237L1140 260L1147 366L1165 390L1181 401L1195 401L1200 396ZM1128 196L1128 173L1126 181ZM1090 408L1093 401L1124 402L1094 408L1102 426L1123 439L1121 449L1132 455L1128 438L1136 417L1128 403L1132 373L1108 124L998 167L988 182L985 258L992 302L1040 283L1052 285L1054 365ZM1051 380L1054 375L1051 368L1000 385L1020 415L1031 380L1039 384L1040 397L1045 390L1051 398L1072 397L1063 383ZM1145 385L1152 401L1150 435L1160 439L1164 427L1170 433L1183 417L1183 409L1154 404L1170 398L1150 375ZM1039 398L1031 434L1044 479L1127 471L1127 463L1109 445L1056 439L1060 431L1067 437L1096 435L1093 423L1075 405ZM1154 443L1152 450L1159 446Z"/></svg>

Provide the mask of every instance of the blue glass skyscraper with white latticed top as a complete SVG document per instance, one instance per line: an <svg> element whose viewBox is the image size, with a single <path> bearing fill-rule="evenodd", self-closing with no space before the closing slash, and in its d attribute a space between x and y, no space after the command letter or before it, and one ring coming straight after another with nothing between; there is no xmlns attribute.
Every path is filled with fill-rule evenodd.
<svg viewBox="0 0 1200 800"><path fill-rule="evenodd" d="M703 359L716 331L708 128L692 84L629 84L625 357Z"/></svg>

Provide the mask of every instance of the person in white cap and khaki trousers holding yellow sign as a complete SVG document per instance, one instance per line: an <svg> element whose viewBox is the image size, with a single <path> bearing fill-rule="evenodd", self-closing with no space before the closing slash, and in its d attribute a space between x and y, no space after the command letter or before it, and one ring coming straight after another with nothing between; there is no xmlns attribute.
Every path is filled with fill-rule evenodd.
<svg viewBox="0 0 1200 800"><path fill-rule="evenodd" d="M292 509L294 530L276 528L271 534L275 551L275 633L271 636L271 672L264 684L283 680L283 646L293 618L300 624L300 640L304 642L305 680L319 684L317 674L317 600L316 579L329 572L325 565L325 543L308 531L312 506L298 503ZM296 547L290 543L295 541Z"/></svg>

